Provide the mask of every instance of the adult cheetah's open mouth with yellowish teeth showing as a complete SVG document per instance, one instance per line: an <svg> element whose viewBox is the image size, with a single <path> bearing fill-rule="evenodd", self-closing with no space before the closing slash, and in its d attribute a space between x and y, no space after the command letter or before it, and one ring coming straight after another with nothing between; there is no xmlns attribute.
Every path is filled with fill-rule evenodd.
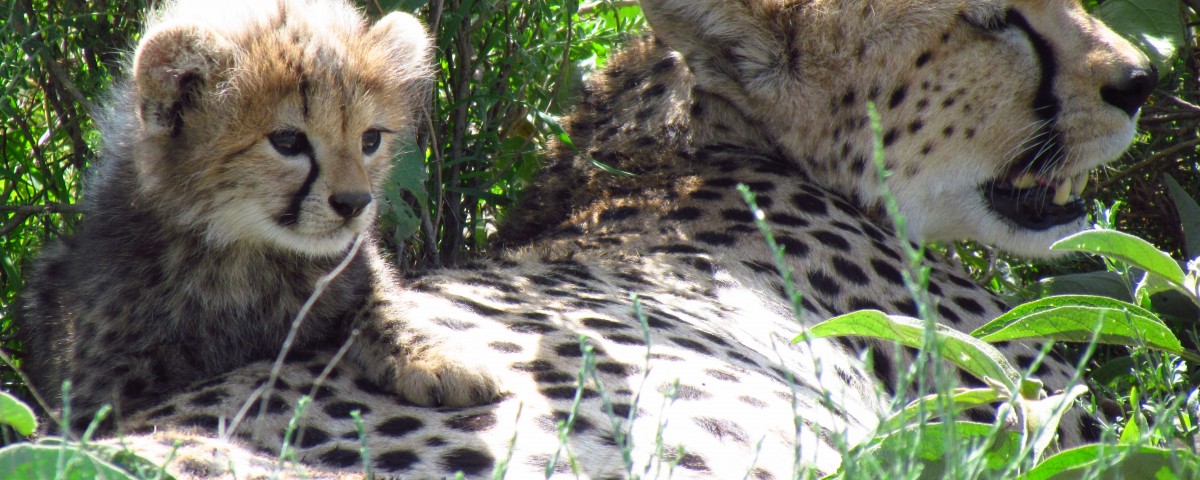
<svg viewBox="0 0 1200 480"><path fill-rule="evenodd" d="M1025 169L1001 175L979 188L988 206L1018 226L1045 230L1084 217L1079 194L1087 172L1068 178L1043 178Z"/></svg>

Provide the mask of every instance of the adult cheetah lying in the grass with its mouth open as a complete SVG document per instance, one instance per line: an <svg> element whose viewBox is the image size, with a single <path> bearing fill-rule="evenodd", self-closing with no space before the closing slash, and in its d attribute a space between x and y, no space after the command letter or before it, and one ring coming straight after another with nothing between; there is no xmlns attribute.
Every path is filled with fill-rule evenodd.
<svg viewBox="0 0 1200 480"><path fill-rule="evenodd" d="M859 308L917 313L902 240L880 206L868 102L908 238L1045 256L1084 228L1075 194L1128 145L1156 80L1145 56L1069 0L642 7L653 34L586 88L566 121L574 148L551 152L494 258L413 278L396 300L404 318L506 367L499 402L418 408L354 364L326 371L319 352L286 364L274 391L260 389L269 364L194 385L127 418L126 442L162 456L170 440L193 442L176 454L180 475L271 468L290 406L314 394L289 439L318 474L365 462L416 478L833 472L904 394L905 366L875 355L866 367L858 342L788 341ZM786 248L799 318L737 184L757 192ZM1003 311L956 265L925 263L944 324L971 330ZM1006 353L1030 365L1036 349ZM1072 368L1046 359L1034 373L1062 388ZM264 395L266 415L239 415ZM1062 428L1066 443L1094 439L1082 419ZM232 446L212 448L217 431Z"/></svg>

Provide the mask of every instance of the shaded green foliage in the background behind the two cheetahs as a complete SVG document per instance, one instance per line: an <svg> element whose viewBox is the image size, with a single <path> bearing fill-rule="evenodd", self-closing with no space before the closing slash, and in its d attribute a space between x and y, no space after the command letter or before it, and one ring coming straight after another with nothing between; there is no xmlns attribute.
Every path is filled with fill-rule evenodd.
<svg viewBox="0 0 1200 480"><path fill-rule="evenodd" d="M121 73L143 12L154 1L10 0L0 12L0 347L19 355L10 318L22 271L41 245L70 232L80 174L98 137L88 114ZM371 16L401 10L437 36L438 78L414 145L396 158L379 227L404 271L486 251L487 236L538 170L551 122L577 84L642 28L636 2L360 0ZM1163 78L1144 109L1136 145L1093 178L1115 223L1182 257L1181 220L1164 194L1171 174L1200 196L1200 0L1086 1L1115 28L1162 55ZM1073 257L1025 263L988 248L949 248L992 288L1018 292L1037 278L1102 269ZM152 300L151 300L152 301ZM1183 336L1183 335L1181 335ZM19 385L0 367L2 388Z"/></svg>

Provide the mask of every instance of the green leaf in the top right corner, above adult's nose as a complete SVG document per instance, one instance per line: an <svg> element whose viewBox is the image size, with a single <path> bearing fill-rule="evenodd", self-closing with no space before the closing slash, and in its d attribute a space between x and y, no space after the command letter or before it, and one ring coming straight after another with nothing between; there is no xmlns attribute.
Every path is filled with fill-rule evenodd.
<svg viewBox="0 0 1200 480"><path fill-rule="evenodd" d="M1141 48L1163 73L1186 42L1177 0L1106 0L1092 14Z"/></svg>

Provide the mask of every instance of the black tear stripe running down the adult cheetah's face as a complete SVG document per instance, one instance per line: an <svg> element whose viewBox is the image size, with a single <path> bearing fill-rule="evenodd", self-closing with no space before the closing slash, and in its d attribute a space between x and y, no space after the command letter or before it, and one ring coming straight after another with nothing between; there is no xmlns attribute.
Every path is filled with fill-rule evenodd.
<svg viewBox="0 0 1200 480"><path fill-rule="evenodd" d="M1030 22L1016 10L1009 8L1004 19L1009 25L1025 32L1033 46L1033 53L1038 56L1038 67L1042 78L1038 82L1038 91L1033 96L1033 113L1044 125L1039 126L1036 133L1037 142L1027 146L1027 151L1021 158L1021 167L1030 172L1044 172L1048 163L1054 163L1064 157L1061 143L1061 134L1055 128L1055 120L1062 112L1062 102L1054 95L1054 82L1058 76L1058 59L1055 56L1050 42L1033 30Z"/></svg>

